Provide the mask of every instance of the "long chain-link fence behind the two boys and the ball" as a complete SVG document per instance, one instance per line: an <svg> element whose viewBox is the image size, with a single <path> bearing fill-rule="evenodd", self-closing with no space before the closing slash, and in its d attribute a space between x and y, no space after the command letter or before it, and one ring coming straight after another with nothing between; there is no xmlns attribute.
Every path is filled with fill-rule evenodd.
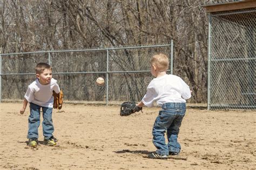
<svg viewBox="0 0 256 170"><path fill-rule="evenodd" d="M163 52L173 56L172 49L171 44L165 44L2 54L1 101L23 100L28 85L36 78L35 66L41 62L52 65L53 78L64 91L65 103L111 105L140 101L153 79L152 55ZM104 86L96 84L98 77L105 79Z"/></svg>

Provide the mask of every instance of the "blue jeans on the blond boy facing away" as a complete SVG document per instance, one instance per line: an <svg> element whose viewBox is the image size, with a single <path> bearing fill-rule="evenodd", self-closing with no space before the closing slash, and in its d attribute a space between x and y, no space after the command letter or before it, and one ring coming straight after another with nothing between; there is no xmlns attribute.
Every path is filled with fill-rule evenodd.
<svg viewBox="0 0 256 170"><path fill-rule="evenodd" d="M163 104L152 130L153 144L157 148L156 153L169 155L169 152L180 152L181 147L177 138L185 112L186 103ZM168 138L167 145L165 144L165 132Z"/></svg>

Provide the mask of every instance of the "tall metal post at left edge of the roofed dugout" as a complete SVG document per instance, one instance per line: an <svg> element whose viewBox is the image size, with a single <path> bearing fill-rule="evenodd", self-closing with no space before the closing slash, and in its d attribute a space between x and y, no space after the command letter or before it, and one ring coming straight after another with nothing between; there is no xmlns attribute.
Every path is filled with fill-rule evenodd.
<svg viewBox="0 0 256 170"><path fill-rule="evenodd" d="M211 13L208 15L208 70L207 70L207 110L210 110L211 104L211 24L212 24L212 16Z"/></svg>

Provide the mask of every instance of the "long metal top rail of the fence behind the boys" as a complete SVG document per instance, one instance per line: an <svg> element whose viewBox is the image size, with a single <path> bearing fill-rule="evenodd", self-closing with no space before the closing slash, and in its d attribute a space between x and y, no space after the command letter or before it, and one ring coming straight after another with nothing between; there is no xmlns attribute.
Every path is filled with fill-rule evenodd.
<svg viewBox="0 0 256 170"><path fill-rule="evenodd" d="M103 49L80 49L80 50L51 50L51 51L34 51L34 52L17 52L17 53L0 53L0 56L10 56L10 55L27 55L27 54L35 54L35 53L54 53L54 52L83 52L83 51L107 51L107 50L123 50L123 49L142 49L142 48L150 48L150 47L164 47L170 46L171 44L163 44L163 45L144 45L144 46L128 46L128 47L109 47Z"/></svg>

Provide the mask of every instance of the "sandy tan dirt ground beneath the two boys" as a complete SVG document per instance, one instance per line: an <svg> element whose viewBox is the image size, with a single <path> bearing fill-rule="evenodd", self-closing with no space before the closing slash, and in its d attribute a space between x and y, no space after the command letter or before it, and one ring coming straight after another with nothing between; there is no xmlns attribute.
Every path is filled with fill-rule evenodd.
<svg viewBox="0 0 256 170"><path fill-rule="evenodd" d="M53 111L58 146L26 146L29 107L0 104L0 169L255 169L256 112L188 108L180 158L144 158L156 150L152 125L159 108L120 117L117 106L65 104ZM42 118L42 115L41 115ZM42 120L41 120L42 121Z"/></svg>

